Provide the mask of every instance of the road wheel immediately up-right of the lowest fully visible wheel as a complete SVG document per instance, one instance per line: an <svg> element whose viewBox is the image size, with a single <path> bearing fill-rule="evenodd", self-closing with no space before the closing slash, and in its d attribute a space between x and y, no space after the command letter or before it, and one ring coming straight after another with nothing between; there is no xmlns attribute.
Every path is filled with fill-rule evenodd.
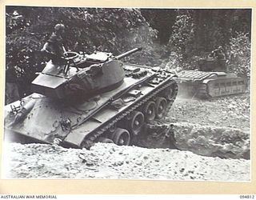
<svg viewBox="0 0 256 200"><path fill-rule="evenodd" d="M142 112L134 110L128 118L128 129L131 134L137 135L142 130L144 115Z"/></svg>

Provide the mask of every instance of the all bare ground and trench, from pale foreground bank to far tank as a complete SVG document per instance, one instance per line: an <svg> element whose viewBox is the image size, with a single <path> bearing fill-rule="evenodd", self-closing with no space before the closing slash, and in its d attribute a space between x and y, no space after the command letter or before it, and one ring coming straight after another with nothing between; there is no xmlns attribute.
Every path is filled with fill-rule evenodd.
<svg viewBox="0 0 256 200"><path fill-rule="evenodd" d="M3 174L5 178L250 181L248 93L210 101L177 98L163 122L146 127L145 133L138 146L98 143L90 150L6 143Z"/></svg>

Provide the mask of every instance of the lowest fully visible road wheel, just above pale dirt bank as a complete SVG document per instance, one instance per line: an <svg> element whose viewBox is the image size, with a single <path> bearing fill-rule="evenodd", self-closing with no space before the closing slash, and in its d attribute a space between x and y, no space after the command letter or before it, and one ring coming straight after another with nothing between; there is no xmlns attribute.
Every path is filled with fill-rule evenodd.
<svg viewBox="0 0 256 200"><path fill-rule="evenodd" d="M130 145L130 133L126 129L117 128L112 135L113 142L118 146Z"/></svg>

